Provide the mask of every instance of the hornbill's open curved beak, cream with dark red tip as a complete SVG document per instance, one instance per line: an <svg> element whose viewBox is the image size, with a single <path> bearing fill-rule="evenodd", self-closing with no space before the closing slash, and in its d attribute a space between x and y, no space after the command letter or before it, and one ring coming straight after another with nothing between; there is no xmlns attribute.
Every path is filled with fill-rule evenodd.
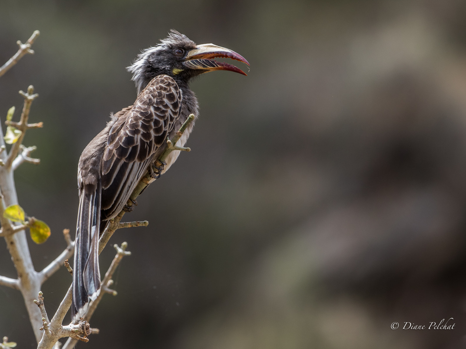
<svg viewBox="0 0 466 349"><path fill-rule="evenodd" d="M188 69L206 70L206 73L214 70L229 70L231 72L247 75L238 67L212 59L217 57L231 58L233 60L239 60L240 62L249 65L247 60L244 59L240 54L237 54L228 48L220 47L214 44L198 45L196 48L188 51L183 65Z"/></svg>

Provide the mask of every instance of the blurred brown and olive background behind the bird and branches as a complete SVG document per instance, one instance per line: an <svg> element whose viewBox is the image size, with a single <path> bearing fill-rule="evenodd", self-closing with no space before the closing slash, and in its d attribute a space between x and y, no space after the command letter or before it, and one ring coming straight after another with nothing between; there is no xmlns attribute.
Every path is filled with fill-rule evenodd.
<svg viewBox="0 0 466 349"><path fill-rule="evenodd" d="M15 173L20 204L74 235L76 168L136 90L125 67L175 28L243 55L248 76L192 83L199 121L110 244L128 242L80 348L352 349L466 346L466 3L13 1L0 9L0 119L32 84ZM4 127L5 129L5 127ZM3 240L0 274L16 277ZM103 273L115 250L101 255ZM55 312L71 278L43 286ZM402 330L453 318L454 330ZM67 315L65 321L68 321ZM392 322L400 328L392 330ZM34 348L19 292L0 287L0 336Z"/></svg>

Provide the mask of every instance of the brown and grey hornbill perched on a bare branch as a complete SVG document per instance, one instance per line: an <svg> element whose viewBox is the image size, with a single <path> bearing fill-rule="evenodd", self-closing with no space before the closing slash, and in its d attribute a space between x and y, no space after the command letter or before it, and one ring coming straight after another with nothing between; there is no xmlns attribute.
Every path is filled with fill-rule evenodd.
<svg viewBox="0 0 466 349"><path fill-rule="evenodd" d="M84 148L78 163L73 323L79 322L89 302L99 295L98 238L108 221L122 209L129 210L126 203L144 175L149 172L152 178L158 178L177 160L178 150L172 151L161 166L154 164L164 152L166 140L173 137L188 116L194 114L196 119L199 115L198 100L189 87L190 81L215 70L247 75L238 67L214 60L218 57L249 65L240 54L228 48L197 45L172 29L168 37L142 50L127 67L137 88L136 101L110 114L110 121ZM191 122L178 146L185 145L193 126Z"/></svg>

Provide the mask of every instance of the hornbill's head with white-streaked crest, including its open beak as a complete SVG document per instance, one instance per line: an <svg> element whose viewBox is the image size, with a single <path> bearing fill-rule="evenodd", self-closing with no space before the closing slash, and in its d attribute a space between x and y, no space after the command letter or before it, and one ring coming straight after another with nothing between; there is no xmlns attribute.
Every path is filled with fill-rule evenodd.
<svg viewBox="0 0 466 349"><path fill-rule="evenodd" d="M170 75L176 81L185 83L199 74L214 70L229 70L246 75L238 67L213 60L216 57L231 58L249 65L240 54L228 48L213 44L196 45L186 35L172 29L160 44L143 50L127 69L133 73L131 80L136 83L138 94L160 74Z"/></svg>

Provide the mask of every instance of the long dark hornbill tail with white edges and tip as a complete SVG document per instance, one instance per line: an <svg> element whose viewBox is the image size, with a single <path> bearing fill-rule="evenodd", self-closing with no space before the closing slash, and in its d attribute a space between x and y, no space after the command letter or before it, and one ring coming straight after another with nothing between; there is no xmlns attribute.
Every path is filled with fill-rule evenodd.
<svg viewBox="0 0 466 349"><path fill-rule="evenodd" d="M75 257L73 265L73 302L71 321L82 317L90 300L100 292L99 231L102 185L85 185L82 189L76 224Z"/></svg>

